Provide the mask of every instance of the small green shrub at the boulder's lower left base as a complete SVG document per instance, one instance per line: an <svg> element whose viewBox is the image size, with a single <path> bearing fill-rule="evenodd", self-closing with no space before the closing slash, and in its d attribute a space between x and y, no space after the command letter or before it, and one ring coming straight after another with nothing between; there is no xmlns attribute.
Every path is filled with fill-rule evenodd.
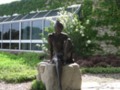
<svg viewBox="0 0 120 90"><path fill-rule="evenodd" d="M45 85L41 81L34 80L32 82L31 90L46 90Z"/></svg>

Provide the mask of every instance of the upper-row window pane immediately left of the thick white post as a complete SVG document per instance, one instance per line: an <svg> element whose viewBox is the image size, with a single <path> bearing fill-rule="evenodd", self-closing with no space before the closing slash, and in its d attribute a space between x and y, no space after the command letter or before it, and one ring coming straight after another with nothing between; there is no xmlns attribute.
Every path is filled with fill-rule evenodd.
<svg viewBox="0 0 120 90"><path fill-rule="evenodd" d="M19 23L11 25L11 40L19 40Z"/></svg>

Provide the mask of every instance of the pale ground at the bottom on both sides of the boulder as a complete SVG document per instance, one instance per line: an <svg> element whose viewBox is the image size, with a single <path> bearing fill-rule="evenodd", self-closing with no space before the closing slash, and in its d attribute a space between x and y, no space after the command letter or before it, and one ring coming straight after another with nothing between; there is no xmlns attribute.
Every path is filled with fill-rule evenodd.
<svg viewBox="0 0 120 90"><path fill-rule="evenodd" d="M30 90L31 84L0 82L0 90ZM120 90L120 74L83 74L82 90Z"/></svg>

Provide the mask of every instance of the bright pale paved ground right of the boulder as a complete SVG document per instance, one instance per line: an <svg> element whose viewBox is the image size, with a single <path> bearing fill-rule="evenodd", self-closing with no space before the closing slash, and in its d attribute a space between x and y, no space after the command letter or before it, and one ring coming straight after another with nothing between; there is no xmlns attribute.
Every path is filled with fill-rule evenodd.
<svg viewBox="0 0 120 90"><path fill-rule="evenodd" d="M120 73L83 74L82 90L120 90Z"/></svg>

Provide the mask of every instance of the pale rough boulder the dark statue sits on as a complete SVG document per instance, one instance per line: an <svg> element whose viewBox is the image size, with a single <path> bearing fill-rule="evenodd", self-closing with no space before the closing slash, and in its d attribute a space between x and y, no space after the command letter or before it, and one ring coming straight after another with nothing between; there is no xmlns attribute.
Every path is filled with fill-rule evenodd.
<svg viewBox="0 0 120 90"><path fill-rule="evenodd" d="M58 90L55 65L47 62L38 64L37 80L42 80L46 90ZM81 90L81 73L76 63L63 66L62 89Z"/></svg>

